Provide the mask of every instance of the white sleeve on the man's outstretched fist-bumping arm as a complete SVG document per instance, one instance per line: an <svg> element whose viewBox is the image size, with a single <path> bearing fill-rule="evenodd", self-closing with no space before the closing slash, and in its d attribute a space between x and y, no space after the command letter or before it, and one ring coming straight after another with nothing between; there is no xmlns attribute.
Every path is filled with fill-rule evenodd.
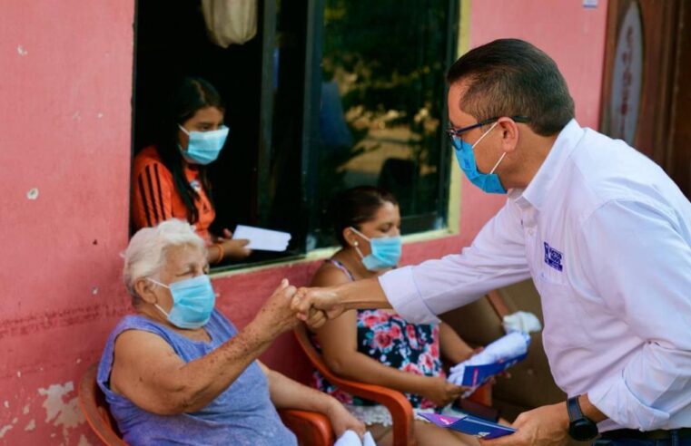
<svg viewBox="0 0 691 446"><path fill-rule="evenodd" d="M518 209L507 203L460 254L395 269L379 280L401 316L427 324L439 322L436 315L529 276Z"/></svg>

